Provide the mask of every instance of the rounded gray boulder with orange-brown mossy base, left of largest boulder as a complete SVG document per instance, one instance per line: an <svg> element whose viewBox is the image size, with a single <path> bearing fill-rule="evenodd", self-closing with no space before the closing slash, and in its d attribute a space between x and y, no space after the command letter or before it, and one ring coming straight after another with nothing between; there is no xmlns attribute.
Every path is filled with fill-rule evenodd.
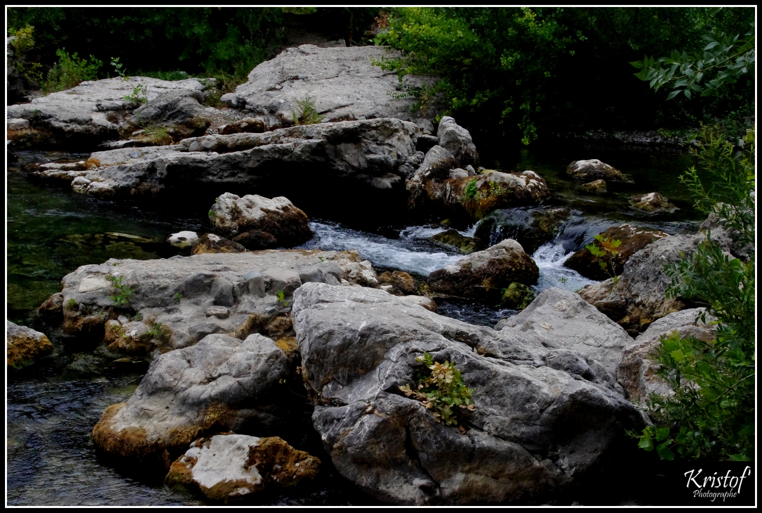
<svg viewBox="0 0 762 513"><path fill-rule="evenodd" d="M270 338L207 335L157 357L133 396L104 411L93 442L108 457L168 468L204 434L285 427L299 409L279 386L291 374Z"/></svg>

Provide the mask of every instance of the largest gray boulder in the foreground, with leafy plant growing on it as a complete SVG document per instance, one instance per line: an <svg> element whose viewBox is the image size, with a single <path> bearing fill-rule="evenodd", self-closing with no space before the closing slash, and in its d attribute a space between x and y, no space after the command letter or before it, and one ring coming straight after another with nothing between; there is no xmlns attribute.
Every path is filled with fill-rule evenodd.
<svg viewBox="0 0 762 513"><path fill-rule="evenodd" d="M325 284L301 287L293 308L313 425L335 467L384 502L543 502L600 468L626 428L644 425L601 384L603 364L545 348L519 328L495 332L382 290ZM465 432L399 390L425 371L416 360L424 351L455 363L472 389ZM607 361L621 354L600 351L611 352Z"/></svg>

